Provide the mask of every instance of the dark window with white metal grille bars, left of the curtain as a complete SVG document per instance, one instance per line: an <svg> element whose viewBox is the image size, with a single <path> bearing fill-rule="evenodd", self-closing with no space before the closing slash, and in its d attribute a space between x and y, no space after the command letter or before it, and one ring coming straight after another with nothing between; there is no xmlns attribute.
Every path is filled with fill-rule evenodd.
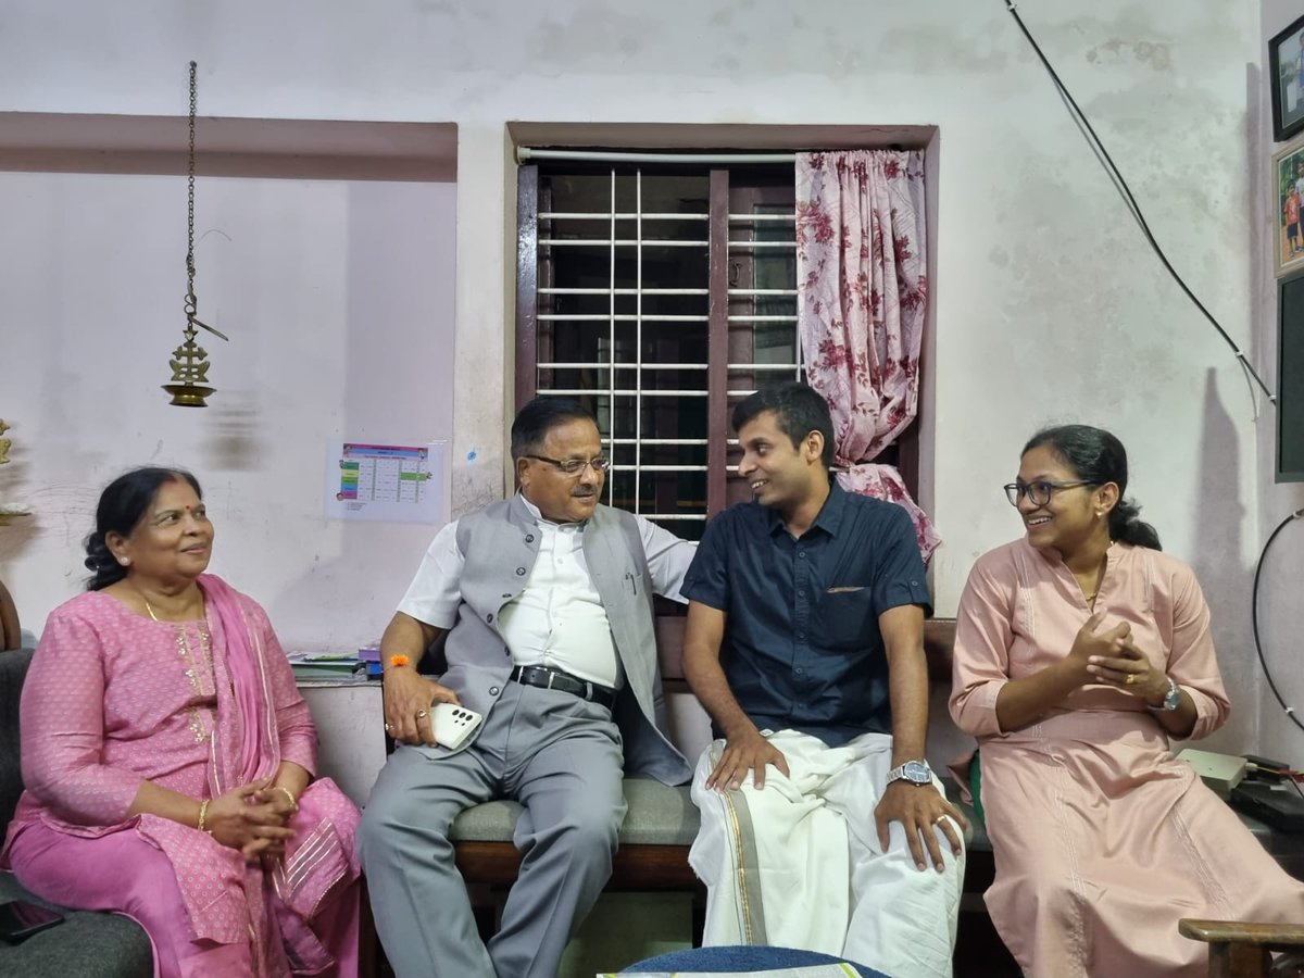
<svg viewBox="0 0 1304 978"><path fill-rule="evenodd" d="M734 403L801 364L790 163L519 168L516 403L593 412L609 505L699 539L750 498Z"/></svg>

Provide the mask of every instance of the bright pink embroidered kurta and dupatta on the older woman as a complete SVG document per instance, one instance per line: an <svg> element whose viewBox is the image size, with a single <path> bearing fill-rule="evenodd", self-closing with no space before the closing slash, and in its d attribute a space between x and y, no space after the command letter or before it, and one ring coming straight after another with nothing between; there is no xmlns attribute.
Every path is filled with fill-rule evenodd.
<svg viewBox="0 0 1304 978"><path fill-rule="evenodd" d="M287 973L284 940L296 966L318 970L330 955L304 921L359 874L357 810L331 781L304 792L289 823L296 835L270 880L207 833L156 815L128 818L146 780L203 799L274 775L282 760L316 768L312 717L266 614L216 578L201 578L201 587L202 622L155 622L102 592L50 615L23 685L26 792L0 865L12 857L23 884L40 893L42 880L21 874L25 831L35 829L39 845L51 832L134 831L171 863L192 940L236 944L254 934L258 974ZM150 936L158 945L160 935Z"/></svg>

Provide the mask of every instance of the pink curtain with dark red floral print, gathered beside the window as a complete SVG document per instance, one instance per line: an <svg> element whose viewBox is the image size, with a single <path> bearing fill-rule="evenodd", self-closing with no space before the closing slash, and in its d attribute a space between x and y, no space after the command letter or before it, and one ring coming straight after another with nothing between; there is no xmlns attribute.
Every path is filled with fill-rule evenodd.
<svg viewBox="0 0 1304 978"><path fill-rule="evenodd" d="M837 480L905 507L925 561L941 537L901 473L874 459L915 415L926 256L922 153L797 155L797 327L833 415Z"/></svg>

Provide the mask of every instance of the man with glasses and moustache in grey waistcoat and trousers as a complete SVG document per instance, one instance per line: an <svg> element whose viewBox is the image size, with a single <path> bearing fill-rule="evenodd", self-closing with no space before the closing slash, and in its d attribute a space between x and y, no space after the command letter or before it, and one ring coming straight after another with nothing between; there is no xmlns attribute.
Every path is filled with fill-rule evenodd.
<svg viewBox="0 0 1304 978"><path fill-rule="evenodd" d="M399 742L372 789L359 852L399 978L553 978L612 871L625 771L682 784L661 733L652 595L677 601L694 546L599 503L608 462L572 400L536 398L511 426L520 492L436 536L381 640L385 725ZM438 681L417 660L447 632ZM430 711L484 716L456 750ZM449 831L492 798L524 806L520 875L480 940Z"/></svg>

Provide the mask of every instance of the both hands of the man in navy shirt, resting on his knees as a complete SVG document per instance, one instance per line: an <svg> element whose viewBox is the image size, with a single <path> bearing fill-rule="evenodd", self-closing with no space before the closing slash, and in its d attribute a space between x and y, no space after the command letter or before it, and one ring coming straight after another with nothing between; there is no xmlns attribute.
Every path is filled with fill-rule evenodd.
<svg viewBox="0 0 1304 978"><path fill-rule="evenodd" d="M765 786L768 764L773 764L784 777L790 776L784 752L755 728L745 730L725 739L725 748L707 777L705 786L717 792L737 792L747 775L752 773L752 784L759 792ZM893 781L883 790L883 797L874 810L874 822L883 852L888 850L891 823L900 822L905 828L906 845L910 846L914 865L923 870L931 862L938 872L945 868L938 831L947 837L951 852L958 857L964 852L961 833L969 828L969 822L960 810L934 785L914 785L906 781Z"/></svg>

